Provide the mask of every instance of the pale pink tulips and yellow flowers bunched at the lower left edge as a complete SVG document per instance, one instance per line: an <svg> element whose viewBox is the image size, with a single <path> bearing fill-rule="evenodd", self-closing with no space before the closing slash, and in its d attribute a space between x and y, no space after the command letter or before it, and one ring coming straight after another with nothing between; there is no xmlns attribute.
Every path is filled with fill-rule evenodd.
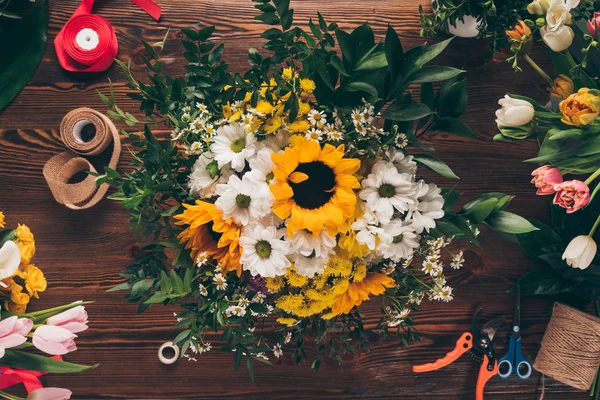
<svg viewBox="0 0 600 400"><path fill-rule="evenodd" d="M1 212L0 226L4 227L4 214ZM90 303L78 301L25 313L29 296L37 297L37 292L46 288L44 275L30 264L34 253L34 238L25 225L0 232L0 274L3 278L0 285L10 290L0 311L0 398L22 399L3 389L23 383L29 393L28 400L69 399L71 391L44 388L38 377L46 373L73 373L96 367L73 364L61 358L77 350L76 333L88 328L84 306ZM15 286L20 289L14 289ZM23 290L27 292L23 293ZM19 301L25 296L26 299ZM32 354L27 351L31 347L52 357Z"/></svg>

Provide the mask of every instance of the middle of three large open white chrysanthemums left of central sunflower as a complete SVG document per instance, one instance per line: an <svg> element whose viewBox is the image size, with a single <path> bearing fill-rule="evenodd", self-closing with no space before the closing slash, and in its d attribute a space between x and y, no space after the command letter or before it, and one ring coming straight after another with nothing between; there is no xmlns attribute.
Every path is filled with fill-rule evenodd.
<svg viewBox="0 0 600 400"><path fill-rule="evenodd" d="M215 206L223 211L223 219L233 218L237 224L248 225L266 216L273 202L267 184L261 184L244 175L231 175L227 184L217 185L219 198Z"/></svg>

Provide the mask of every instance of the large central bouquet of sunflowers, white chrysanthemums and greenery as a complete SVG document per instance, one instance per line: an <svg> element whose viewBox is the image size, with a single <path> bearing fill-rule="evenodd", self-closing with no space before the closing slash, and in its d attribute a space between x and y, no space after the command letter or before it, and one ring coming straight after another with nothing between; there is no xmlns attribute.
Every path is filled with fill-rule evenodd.
<svg viewBox="0 0 600 400"><path fill-rule="evenodd" d="M411 312L424 298L455 295L445 273L464 259L452 239L477 244L480 224L536 229L504 210L512 196L482 195L453 211L459 193L420 175L425 167L457 178L427 154L427 132L474 137L457 119L467 103L462 71L427 65L449 41L405 52L391 26L376 42L368 24L345 32L318 14L307 32L292 26L288 1L256 3L271 25L261 35L269 55L251 48L243 75L209 41L214 27L183 30L185 76L162 74L164 41L144 43L149 84L118 61L141 101L144 135L130 135L133 171L98 175L150 242L114 289L129 291L140 312L181 304L182 356L210 350L206 335L220 330L222 350L235 353L236 370L245 357L251 376L253 360L269 363L285 345L300 363L315 342L315 369L367 349L358 307L370 298L378 332L416 338ZM419 101L409 85L420 85ZM112 117L140 123L100 96ZM151 132L158 123L170 140Z"/></svg>

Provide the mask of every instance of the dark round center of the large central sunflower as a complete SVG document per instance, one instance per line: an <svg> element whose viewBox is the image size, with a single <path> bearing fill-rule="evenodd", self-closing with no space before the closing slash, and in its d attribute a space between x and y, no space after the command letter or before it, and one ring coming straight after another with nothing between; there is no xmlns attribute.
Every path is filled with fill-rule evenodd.
<svg viewBox="0 0 600 400"><path fill-rule="evenodd" d="M298 164L294 172L302 172L308 175L304 182L289 185L294 191L293 199L302 208L314 210L319 208L333 197L335 187L335 174L331 168L321 161L311 161Z"/></svg>

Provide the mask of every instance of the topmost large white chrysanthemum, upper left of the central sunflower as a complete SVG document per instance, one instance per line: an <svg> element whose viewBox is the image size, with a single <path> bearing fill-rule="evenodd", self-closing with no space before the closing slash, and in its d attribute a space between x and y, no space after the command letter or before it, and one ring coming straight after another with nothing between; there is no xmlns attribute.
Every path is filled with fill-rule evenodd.
<svg viewBox="0 0 600 400"><path fill-rule="evenodd" d="M219 168L231 163L231 168L241 172L246 160L256 152L256 137L237 123L221 126L213 140L210 149Z"/></svg>

